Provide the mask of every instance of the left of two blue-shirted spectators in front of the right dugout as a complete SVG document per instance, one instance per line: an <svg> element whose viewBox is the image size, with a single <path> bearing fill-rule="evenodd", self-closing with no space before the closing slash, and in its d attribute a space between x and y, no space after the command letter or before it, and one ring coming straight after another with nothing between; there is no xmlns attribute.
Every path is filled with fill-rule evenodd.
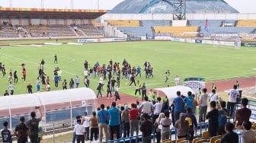
<svg viewBox="0 0 256 143"><path fill-rule="evenodd" d="M181 91L177 91L177 97L174 98L174 120L175 122L179 119L180 113L183 110L183 100L181 98Z"/></svg>

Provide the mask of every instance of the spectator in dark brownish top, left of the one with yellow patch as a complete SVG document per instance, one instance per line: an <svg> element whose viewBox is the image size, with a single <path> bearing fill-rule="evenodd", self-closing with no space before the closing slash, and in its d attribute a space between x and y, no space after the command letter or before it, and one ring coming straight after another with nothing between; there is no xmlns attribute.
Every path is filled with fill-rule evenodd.
<svg viewBox="0 0 256 143"><path fill-rule="evenodd" d="M189 124L185 118L186 118L185 114L180 113L180 118L175 122L178 138L187 138Z"/></svg>

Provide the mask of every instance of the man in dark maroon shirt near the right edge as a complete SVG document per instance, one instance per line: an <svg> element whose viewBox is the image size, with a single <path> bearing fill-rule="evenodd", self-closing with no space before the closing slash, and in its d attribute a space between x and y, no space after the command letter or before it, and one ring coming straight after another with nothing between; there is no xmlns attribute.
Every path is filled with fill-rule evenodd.
<svg viewBox="0 0 256 143"><path fill-rule="evenodd" d="M242 104L242 108L239 110L236 110L235 112L234 123L237 121L235 124L235 127L242 129L242 122L249 121L251 116L251 110L247 108L247 105L248 105L247 98L242 98L241 104Z"/></svg>

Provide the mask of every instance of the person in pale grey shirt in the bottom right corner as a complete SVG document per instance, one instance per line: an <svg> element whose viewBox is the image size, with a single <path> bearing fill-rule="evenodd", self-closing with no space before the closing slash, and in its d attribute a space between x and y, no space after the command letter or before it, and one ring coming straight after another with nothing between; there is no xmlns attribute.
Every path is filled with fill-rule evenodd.
<svg viewBox="0 0 256 143"><path fill-rule="evenodd" d="M255 139L256 132L251 130L251 122L250 121L244 121L242 126L243 126L244 130L241 132L241 135L242 135L241 143L256 142L256 139Z"/></svg>

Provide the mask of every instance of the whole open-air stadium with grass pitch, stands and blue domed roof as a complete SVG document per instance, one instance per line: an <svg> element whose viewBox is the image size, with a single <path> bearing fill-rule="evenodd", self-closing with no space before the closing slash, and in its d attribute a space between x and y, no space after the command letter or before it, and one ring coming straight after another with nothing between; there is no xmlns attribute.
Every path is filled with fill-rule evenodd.
<svg viewBox="0 0 256 143"><path fill-rule="evenodd" d="M91 116L101 103L111 105L114 100L106 97L107 79L117 78L117 73L115 75L113 71L111 75L112 70L105 70L103 97L98 97L97 90L101 74L98 75L98 71L95 76L93 74L97 63L102 66L103 74L104 68L111 65L110 61L120 62L120 68L124 66L123 61L135 71L140 67L141 76L136 76L135 81L145 83L146 93L152 90L170 105L176 91L184 95L191 91L198 99L198 88L206 87L210 93L212 84L216 85L219 97L227 101L229 90L235 81L239 81L238 90L242 97L249 99L250 121L256 119L256 14L240 13L226 1L124 0L111 10L75 9L72 6L0 7L0 24L0 93L10 95L0 97L0 125L9 122L9 128L14 129L21 116L29 120L31 111L39 114L35 106L40 106L43 132L49 136L42 142L72 142L75 116L85 112ZM58 56L58 62L54 55ZM39 78L43 60L46 62L43 75L50 77L49 87ZM88 77L85 61L92 70ZM152 66L150 73L145 63ZM24 66L26 78L22 72ZM58 71L59 87L55 81L56 68L61 73ZM17 82L12 78L14 71L18 75ZM171 71L169 75L167 71ZM80 84L72 89L70 81L76 77L80 78ZM176 77L181 78L178 84L174 81ZM37 78L40 79L38 84ZM68 81L68 90L64 90L64 79ZM13 84L10 85L10 81ZM33 94L27 93L28 84L32 84ZM119 85L114 88L121 97L116 100L118 107L143 102L140 93L134 93L136 84L133 85L126 75L121 76ZM237 103L235 110L240 108ZM197 109L197 119L198 114ZM234 116L230 120L234 121ZM198 138L204 138L207 126L208 122L198 124ZM64 138L56 137L56 132ZM139 142L142 135L114 141L104 138L106 142ZM209 136L206 139L210 139ZM177 141L177 129L173 128L171 140L162 142Z"/></svg>

